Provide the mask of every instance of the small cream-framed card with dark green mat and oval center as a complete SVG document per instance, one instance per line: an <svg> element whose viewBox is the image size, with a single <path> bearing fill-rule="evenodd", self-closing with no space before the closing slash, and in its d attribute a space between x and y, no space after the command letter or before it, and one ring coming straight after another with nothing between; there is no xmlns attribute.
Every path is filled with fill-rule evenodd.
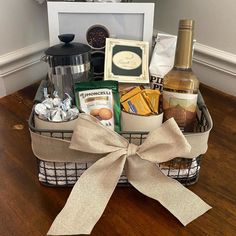
<svg viewBox="0 0 236 236"><path fill-rule="evenodd" d="M104 80L149 83L148 59L148 42L107 38Z"/></svg>

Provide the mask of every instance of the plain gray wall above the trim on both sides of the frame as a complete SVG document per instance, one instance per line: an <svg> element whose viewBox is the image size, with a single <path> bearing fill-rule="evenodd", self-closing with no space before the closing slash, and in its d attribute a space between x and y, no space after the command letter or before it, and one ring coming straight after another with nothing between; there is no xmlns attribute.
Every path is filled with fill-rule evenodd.
<svg viewBox="0 0 236 236"><path fill-rule="evenodd" d="M196 20L197 42L236 54L235 0L157 0L157 30L176 34L180 18ZM46 4L0 1L0 55L48 39Z"/></svg>

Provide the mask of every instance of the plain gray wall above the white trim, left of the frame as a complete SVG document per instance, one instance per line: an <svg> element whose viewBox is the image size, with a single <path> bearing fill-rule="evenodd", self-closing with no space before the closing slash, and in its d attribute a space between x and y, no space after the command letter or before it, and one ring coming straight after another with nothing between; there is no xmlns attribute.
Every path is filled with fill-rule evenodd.
<svg viewBox="0 0 236 236"><path fill-rule="evenodd" d="M47 40L46 4L0 0L0 55Z"/></svg>

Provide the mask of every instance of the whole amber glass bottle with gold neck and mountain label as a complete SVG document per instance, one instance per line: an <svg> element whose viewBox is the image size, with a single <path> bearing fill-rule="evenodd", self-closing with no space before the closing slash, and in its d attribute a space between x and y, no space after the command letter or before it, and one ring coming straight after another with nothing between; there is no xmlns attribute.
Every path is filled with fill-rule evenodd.
<svg viewBox="0 0 236 236"><path fill-rule="evenodd" d="M163 79L164 120L174 117L180 129L192 132L199 81L192 71L193 20L180 20L174 67Z"/></svg>

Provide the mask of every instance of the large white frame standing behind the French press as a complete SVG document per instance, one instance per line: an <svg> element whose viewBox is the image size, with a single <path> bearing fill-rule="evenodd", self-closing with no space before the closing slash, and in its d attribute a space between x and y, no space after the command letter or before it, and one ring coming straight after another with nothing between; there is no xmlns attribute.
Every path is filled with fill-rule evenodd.
<svg viewBox="0 0 236 236"><path fill-rule="evenodd" d="M152 43L154 3L48 1L47 4L50 46L58 44L58 35L65 33L75 34L76 42L89 44L93 49L103 48L104 37Z"/></svg>

